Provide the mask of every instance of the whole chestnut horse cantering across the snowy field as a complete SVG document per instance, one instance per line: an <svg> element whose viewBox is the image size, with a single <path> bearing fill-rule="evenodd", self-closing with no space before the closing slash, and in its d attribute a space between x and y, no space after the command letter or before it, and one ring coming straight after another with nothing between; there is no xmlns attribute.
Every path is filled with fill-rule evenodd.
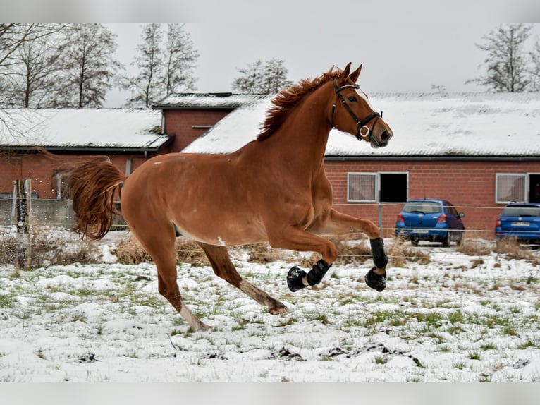
<svg viewBox="0 0 540 405"><path fill-rule="evenodd" d="M82 236L102 238L121 198L125 222L157 267L159 293L193 330L205 330L185 305L176 282L175 239L185 236L204 250L215 274L271 314L286 306L240 277L227 246L268 241L274 248L321 254L309 273L288 272L291 291L321 282L338 257L322 236L363 232L371 242L374 267L369 286L386 286L388 259L377 226L332 208L332 188L324 171L331 128L384 147L391 128L374 112L356 84L362 65L331 68L278 93L261 132L228 155L169 153L147 160L125 176L107 157L73 169L68 177L75 227Z"/></svg>

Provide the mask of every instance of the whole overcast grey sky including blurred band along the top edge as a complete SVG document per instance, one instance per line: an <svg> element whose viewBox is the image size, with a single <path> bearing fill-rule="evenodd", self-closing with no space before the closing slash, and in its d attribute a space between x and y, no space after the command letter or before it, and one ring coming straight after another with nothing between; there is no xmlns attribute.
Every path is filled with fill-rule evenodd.
<svg viewBox="0 0 540 405"><path fill-rule="evenodd" d="M312 78L336 65L364 64L373 92L483 91L465 84L484 71L475 44L501 22L540 21L538 0L0 0L4 21L121 21L117 56L128 73L142 23L199 21L187 29L200 53L197 90L231 91L237 68L283 59L288 78ZM531 42L540 37L534 23ZM127 94L111 91L106 107Z"/></svg>

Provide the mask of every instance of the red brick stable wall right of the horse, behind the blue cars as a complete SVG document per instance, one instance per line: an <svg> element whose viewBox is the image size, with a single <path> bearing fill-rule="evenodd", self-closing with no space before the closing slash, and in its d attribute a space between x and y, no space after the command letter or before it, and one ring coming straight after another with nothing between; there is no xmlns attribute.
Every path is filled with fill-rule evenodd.
<svg viewBox="0 0 540 405"><path fill-rule="evenodd" d="M503 161L395 161L369 160L325 162L326 174L333 185L337 210L355 217L371 219L379 224L379 205L347 202L349 172L408 173L408 198L441 198L449 200L460 212L468 236L492 238L498 214L503 204L495 203L496 174L540 173L539 162ZM395 218L403 204L384 203L383 234L393 235Z"/></svg>

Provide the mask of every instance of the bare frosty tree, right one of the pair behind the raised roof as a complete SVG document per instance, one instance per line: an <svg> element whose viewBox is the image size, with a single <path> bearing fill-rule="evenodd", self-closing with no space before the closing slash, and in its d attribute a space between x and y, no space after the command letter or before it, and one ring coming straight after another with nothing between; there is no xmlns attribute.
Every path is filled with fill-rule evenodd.
<svg viewBox="0 0 540 405"><path fill-rule="evenodd" d="M199 53L195 49L189 32L185 31L184 24L168 24L165 53L165 95L194 90L197 81L194 69Z"/></svg>

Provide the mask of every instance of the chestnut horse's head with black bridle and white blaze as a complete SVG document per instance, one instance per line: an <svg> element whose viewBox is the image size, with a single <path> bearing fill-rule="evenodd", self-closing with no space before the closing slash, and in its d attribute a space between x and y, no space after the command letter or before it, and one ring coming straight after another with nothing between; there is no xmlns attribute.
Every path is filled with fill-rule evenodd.
<svg viewBox="0 0 540 405"><path fill-rule="evenodd" d="M385 147L392 138L392 130L383 121L382 112L374 111L367 95L356 84L360 71L362 65L351 73L349 63L339 77L333 79L336 102L332 107L331 126L371 143L372 147Z"/></svg>

